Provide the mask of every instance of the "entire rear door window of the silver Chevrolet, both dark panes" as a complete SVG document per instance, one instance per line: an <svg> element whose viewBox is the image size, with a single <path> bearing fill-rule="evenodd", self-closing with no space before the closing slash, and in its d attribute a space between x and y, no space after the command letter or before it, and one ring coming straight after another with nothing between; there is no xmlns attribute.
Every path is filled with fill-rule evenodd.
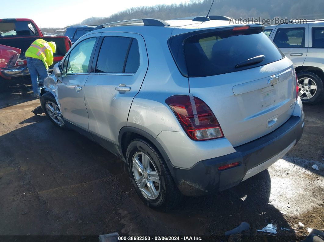
<svg viewBox="0 0 324 242"><path fill-rule="evenodd" d="M115 36L103 39L96 65L97 73L134 73L138 67L136 39Z"/></svg>

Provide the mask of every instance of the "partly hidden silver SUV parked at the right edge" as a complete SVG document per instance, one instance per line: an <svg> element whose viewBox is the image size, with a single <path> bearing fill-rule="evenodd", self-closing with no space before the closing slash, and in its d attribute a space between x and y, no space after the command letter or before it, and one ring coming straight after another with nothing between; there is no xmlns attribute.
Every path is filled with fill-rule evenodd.
<svg viewBox="0 0 324 242"><path fill-rule="evenodd" d="M324 20L266 26L264 33L294 63L299 96L306 104L324 99Z"/></svg>

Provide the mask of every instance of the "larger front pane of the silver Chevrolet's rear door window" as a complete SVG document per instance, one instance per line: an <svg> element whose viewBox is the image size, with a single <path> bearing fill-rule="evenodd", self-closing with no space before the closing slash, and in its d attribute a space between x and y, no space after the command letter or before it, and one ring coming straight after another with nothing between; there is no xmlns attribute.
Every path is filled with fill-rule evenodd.
<svg viewBox="0 0 324 242"><path fill-rule="evenodd" d="M132 38L105 37L99 51L97 73L123 73L126 53Z"/></svg>

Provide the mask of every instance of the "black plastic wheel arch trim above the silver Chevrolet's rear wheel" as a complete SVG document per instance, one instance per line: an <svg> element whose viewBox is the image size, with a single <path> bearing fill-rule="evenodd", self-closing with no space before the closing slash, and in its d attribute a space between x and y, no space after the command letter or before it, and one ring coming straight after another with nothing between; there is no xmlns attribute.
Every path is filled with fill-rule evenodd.
<svg viewBox="0 0 324 242"><path fill-rule="evenodd" d="M125 127L122 127L119 132L118 142L119 142L120 153L122 154L124 161L126 163L127 163L126 150L127 150L128 144L133 139L140 137L140 136L144 137L146 140L151 142L156 147L156 149L161 153L161 155L165 161L170 161L167 153L165 152L165 150L163 149L161 144L159 142L157 142L157 140L152 135L150 135L149 133L147 133L139 128L125 126Z"/></svg>

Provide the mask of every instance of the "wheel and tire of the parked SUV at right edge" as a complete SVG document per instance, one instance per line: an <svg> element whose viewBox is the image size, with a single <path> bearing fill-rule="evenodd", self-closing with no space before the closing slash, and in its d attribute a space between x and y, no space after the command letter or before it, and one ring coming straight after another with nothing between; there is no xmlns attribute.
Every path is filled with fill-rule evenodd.
<svg viewBox="0 0 324 242"><path fill-rule="evenodd" d="M324 99L323 80L317 74L303 71L297 74L297 79L299 96L304 104L316 104ZM307 80L307 86L305 86L305 80ZM307 95L312 97L307 97Z"/></svg>

